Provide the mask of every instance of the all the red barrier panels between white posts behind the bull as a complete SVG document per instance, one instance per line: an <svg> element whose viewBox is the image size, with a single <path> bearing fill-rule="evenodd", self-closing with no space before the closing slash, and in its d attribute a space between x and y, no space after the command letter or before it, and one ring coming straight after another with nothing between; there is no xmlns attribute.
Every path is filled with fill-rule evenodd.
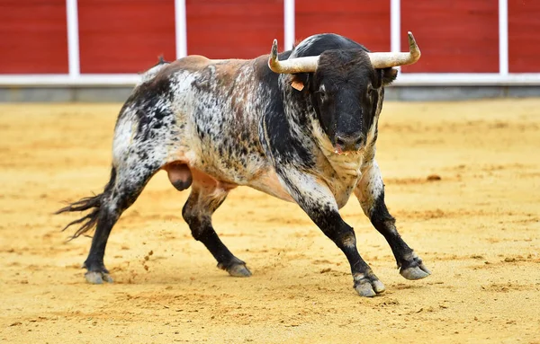
<svg viewBox="0 0 540 344"><path fill-rule="evenodd" d="M284 0L185 0L187 52L252 58L284 47ZM498 73L498 0L401 0L405 73ZM390 0L295 0L297 41L337 32L389 51ZM175 0L78 0L80 71L138 73L175 59ZM509 72L540 73L540 0L509 0ZM67 74L66 0L0 0L0 74Z"/></svg>

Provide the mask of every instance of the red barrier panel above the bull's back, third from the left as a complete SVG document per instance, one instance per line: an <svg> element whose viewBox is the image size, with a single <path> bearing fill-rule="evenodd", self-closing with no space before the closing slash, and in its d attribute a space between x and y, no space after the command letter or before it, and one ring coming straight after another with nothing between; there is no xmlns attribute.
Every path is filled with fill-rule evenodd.
<svg viewBox="0 0 540 344"><path fill-rule="evenodd" d="M283 47L283 0L187 0L187 52L211 58L253 58Z"/></svg>

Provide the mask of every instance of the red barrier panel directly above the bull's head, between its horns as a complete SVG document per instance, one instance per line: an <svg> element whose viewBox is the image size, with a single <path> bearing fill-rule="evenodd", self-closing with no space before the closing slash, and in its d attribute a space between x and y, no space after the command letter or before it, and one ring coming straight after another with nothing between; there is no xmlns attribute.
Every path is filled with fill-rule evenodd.
<svg viewBox="0 0 540 344"><path fill-rule="evenodd" d="M333 32L372 51L390 51L390 1L296 0L296 39Z"/></svg>

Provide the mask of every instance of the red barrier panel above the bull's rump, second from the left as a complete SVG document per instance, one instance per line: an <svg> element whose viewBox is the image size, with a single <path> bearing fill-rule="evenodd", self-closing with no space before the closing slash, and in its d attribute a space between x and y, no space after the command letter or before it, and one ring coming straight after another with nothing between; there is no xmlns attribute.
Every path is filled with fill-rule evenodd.
<svg viewBox="0 0 540 344"><path fill-rule="evenodd" d="M138 73L175 59L174 0L78 0L81 73Z"/></svg>

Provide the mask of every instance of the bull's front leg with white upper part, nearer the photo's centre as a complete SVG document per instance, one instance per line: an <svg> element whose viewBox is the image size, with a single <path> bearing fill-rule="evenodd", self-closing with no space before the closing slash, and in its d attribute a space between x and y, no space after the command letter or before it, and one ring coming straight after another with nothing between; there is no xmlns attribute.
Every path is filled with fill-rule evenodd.
<svg viewBox="0 0 540 344"><path fill-rule="evenodd" d="M278 172L294 200L343 253L351 267L354 288L361 296L383 293L384 285L356 249L356 235L338 212L338 204L324 181L293 169Z"/></svg>

